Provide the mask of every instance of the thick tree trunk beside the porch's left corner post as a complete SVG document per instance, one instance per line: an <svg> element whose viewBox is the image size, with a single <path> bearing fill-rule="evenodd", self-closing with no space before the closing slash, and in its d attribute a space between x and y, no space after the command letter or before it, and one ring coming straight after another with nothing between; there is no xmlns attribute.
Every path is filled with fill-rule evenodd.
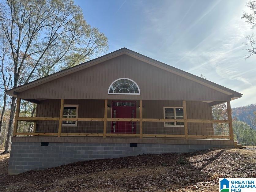
<svg viewBox="0 0 256 192"><path fill-rule="evenodd" d="M9 125L8 125L8 130L7 130L7 137L6 137L6 143L5 143L5 150L4 153L8 152L9 145L10 145L10 139L13 133L13 119L15 115L15 108L16 108L16 98L12 98L12 104L10 108L10 119L9 119Z"/></svg>

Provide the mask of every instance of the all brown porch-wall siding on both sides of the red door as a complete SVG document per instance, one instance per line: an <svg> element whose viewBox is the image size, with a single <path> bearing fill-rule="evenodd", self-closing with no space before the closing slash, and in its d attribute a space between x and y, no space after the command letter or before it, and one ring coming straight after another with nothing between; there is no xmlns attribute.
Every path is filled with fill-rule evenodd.
<svg viewBox="0 0 256 192"><path fill-rule="evenodd" d="M136 116L139 118L139 100ZM78 117L104 118L104 100L64 100L64 104L78 104ZM111 106L112 100L108 100ZM182 101L142 101L142 115L146 119L164 119L163 107L182 107ZM38 104L36 117L59 117L60 100L43 100ZM111 107L107 108L107 117L111 118ZM211 107L200 101L187 101L188 119L212 119ZM136 123L139 133L139 123ZM38 121L36 132L57 133L57 121ZM77 127L62 127L62 133L103 133L103 122L78 121ZM111 133L111 122L107 122L107 133ZM164 122L143 122L144 134L184 134L183 127L164 127ZM190 135L213 134L212 123L188 123Z"/></svg>

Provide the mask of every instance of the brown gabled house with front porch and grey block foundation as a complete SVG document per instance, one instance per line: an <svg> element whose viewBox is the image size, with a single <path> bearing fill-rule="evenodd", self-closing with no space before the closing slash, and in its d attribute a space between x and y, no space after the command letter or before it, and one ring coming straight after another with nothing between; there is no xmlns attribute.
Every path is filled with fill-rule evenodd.
<svg viewBox="0 0 256 192"><path fill-rule="evenodd" d="M82 160L234 147L230 101L242 96L126 48L7 94L17 97L9 174ZM36 117L19 117L21 99L37 104ZM211 107L224 102L228 119L213 120Z"/></svg>

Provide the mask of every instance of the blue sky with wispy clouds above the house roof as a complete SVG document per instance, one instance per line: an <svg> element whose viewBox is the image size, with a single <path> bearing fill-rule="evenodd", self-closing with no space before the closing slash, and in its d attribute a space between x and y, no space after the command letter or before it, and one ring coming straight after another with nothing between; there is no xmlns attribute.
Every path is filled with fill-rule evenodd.
<svg viewBox="0 0 256 192"><path fill-rule="evenodd" d="M247 1L86 0L86 21L103 32L112 52L126 47L243 94L232 107L256 103L256 55L245 60L241 20Z"/></svg>

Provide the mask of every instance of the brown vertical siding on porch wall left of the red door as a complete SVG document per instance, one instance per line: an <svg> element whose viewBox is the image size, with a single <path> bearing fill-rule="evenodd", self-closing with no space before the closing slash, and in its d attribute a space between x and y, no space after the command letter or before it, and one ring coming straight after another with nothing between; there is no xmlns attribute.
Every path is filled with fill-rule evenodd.
<svg viewBox="0 0 256 192"><path fill-rule="evenodd" d="M77 104L78 117L103 118L104 100L64 100L65 104ZM36 117L59 117L60 100L43 100L37 107ZM36 132L57 133L57 121L37 121ZM103 122L78 121L77 126L63 126L62 133L103 133Z"/></svg>

